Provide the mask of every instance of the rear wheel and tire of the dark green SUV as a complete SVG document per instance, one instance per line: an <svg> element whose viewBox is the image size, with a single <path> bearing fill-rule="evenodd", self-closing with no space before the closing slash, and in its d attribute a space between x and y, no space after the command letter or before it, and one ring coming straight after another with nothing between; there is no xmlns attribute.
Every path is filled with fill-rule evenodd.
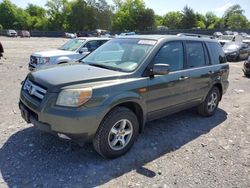
<svg viewBox="0 0 250 188"><path fill-rule="evenodd" d="M198 113L204 117L214 115L221 98L218 87L213 87L207 94L206 99L198 106Z"/></svg>

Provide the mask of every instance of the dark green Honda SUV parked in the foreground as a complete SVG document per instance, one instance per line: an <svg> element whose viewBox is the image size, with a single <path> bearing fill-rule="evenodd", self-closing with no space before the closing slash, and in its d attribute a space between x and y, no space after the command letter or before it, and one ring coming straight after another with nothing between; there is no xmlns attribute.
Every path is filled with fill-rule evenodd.
<svg viewBox="0 0 250 188"><path fill-rule="evenodd" d="M197 106L212 116L228 88L229 65L209 38L115 38L72 63L29 73L19 107L40 130L106 158L126 153L147 121Z"/></svg>

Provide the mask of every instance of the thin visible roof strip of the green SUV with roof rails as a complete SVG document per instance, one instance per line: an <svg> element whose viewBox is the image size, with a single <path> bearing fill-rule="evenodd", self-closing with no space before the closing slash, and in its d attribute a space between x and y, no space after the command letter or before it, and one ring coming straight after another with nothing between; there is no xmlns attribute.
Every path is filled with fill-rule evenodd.
<svg viewBox="0 0 250 188"><path fill-rule="evenodd" d="M197 40L197 41L214 41L215 39L210 39L208 37L195 37L195 36L177 36L177 35L129 35L121 36L118 38L135 38L135 39L149 39L149 40L162 40L162 39L176 39L176 40Z"/></svg>

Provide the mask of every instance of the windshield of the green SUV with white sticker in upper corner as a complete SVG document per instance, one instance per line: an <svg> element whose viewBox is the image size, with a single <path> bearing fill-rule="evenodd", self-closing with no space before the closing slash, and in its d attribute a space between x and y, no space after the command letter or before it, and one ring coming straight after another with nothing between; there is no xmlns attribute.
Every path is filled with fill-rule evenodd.
<svg viewBox="0 0 250 188"><path fill-rule="evenodd" d="M155 40L113 39L82 61L92 66L131 72L142 63L155 44Z"/></svg>

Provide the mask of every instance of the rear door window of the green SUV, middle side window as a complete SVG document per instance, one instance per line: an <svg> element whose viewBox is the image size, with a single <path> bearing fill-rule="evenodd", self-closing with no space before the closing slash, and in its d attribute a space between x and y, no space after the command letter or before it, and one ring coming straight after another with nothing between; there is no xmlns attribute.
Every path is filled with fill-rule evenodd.
<svg viewBox="0 0 250 188"><path fill-rule="evenodd" d="M204 48L201 42L187 42L187 68L206 65Z"/></svg>

